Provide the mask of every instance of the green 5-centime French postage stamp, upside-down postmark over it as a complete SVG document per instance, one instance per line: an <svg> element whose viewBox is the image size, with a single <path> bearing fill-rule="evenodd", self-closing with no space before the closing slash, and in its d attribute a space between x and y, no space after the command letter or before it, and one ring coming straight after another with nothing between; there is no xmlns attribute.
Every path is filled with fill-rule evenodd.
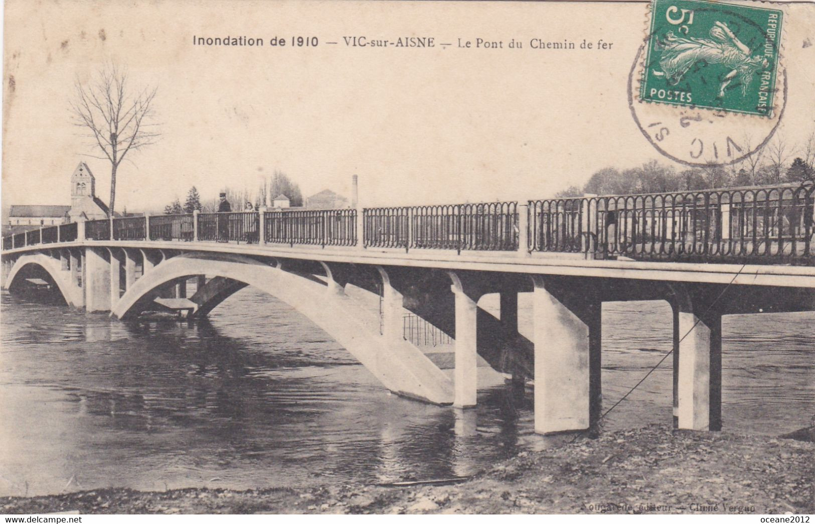
<svg viewBox="0 0 815 524"><path fill-rule="evenodd" d="M654 0L640 99L770 116L782 11Z"/></svg>

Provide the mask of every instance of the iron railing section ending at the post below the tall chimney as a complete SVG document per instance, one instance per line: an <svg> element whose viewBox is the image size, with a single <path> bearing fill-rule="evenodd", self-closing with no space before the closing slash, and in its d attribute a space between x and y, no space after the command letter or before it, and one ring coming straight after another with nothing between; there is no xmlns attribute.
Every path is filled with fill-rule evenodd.
<svg viewBox="0 0 815 524"><path fill-rule="evenodd" d="M267 211L266 242L315 246L355 246L356 210Z"/></svg>

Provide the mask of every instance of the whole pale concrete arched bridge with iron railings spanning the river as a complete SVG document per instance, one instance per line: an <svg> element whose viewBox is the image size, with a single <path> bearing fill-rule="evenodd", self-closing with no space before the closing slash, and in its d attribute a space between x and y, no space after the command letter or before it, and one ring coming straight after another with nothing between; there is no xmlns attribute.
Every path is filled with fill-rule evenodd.
<svg viewBox="0 0 815 524"><path fill-rule="evenodd" d="M34 278L89 313L203 317L244 286L306 315L394 393L476 403L482 357L535 381L535 431L601 414L601 304L667 300L674 417L720 429L721 318L815 310L813 185L450 206L156 215L3 238L2 286ZM531 293L534 334L518 331ZM500 295L500 313L478 306ZM377 304L378 307L371 307ZM403 337L455 340L452 379ZM509 356L509 358L508 358Z"/></svg>

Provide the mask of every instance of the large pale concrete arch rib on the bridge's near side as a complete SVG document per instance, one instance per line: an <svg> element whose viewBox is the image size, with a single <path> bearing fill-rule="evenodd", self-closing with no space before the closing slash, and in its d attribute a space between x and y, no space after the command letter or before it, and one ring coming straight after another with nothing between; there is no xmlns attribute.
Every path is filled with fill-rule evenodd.
<svg viewBox="0 0 815 524"><path fill-rule="evenodd" d="M158 287L195 275L241 282L289 304L394 393L435 404L452 403L452 380L406 340L385 340L377 312L324 283L246 256L199 252L171 257L139 278L114 305L111 315L133 317L152 301Z"/></svg>

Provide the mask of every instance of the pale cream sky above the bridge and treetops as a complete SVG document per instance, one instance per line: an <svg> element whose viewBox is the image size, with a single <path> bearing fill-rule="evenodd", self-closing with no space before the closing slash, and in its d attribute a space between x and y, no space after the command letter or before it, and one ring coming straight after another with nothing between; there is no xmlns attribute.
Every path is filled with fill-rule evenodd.
<svg viewBox="0 0 815 524"><path fill-rule="evenodd" d="M109 163L68 112L74 82L108 61L134 87L158 87L161 129L120 167L117 211L161 209L192 185L206 199L253 189L275 170L305 196L348 195L357 174L360 202L388 206L542 198L602 167L671 164L628 109L646 12L641 2L7 0L2 203L68 204L80 161L108 201ZM785 24L781 132L795 140L815 130L815 4L787 6ZM196 35L267 45L194 46ZM319 45L268 45L298 35ZM437 45L347 47L350 36ZM458 47L476 38L503 48ZM508 48L513 38L522 49ZM613 45L532 50L531 38Z"/></svg>

